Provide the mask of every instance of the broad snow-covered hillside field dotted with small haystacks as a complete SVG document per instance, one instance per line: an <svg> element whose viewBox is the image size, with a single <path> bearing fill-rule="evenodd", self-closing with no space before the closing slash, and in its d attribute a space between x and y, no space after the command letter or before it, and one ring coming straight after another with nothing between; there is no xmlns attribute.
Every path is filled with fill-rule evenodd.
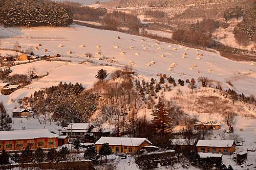
<svg viewBox="0 0 256 170"><path fill-rule="evenodd" d="M138 76L145 78L146 81L149 81L151 77L159 80L160 77L156 75L157 73L171 75L176 82L179 78L185 81L186 79L191 80L194 78L196 80L200 76L206 76L210 79L221 81L224 88L235 89L238 93L244 93L247 96L256 95L256 63L252 65L252 62L231 61L221 57L217 51L196 51L196 49L159 42L149 38L97 30L79 25L71 25L69 28L0 27L0 35L20 36L20 38L1 39L1 48L12 49L13 45L18 41L21 45L21 50L25 51L31 46L33 49L39 47L39 50L33 50L37 55L56 55L59 53L62 55L60 59L71 60L71 62L37 61L12 67L13 72L11 74L26 73L27 68L31 66L38 68L37 75L43 75L47 72L49 74L41 79L34 79L30 85L18 89L8 96L0 94L0 100L4 102L9 115L12 114L15 108L19 107L19 99L30 96L36 90L58 85L61 81L73 84L78 82L82 83L85 88L90 88L97 81L94 76L99 69L104 68L111 73L115 69L124 68L125 65L132 65ZM121 39L118 39L118 36ZM45 40L45 38L48 38L48 40ZM38 46L39 43L42 46ZM59 47L60 44L63 47ZM82 45L85 47L82 47ZM48 52L44 52L44 49L48 49ZM72 51L72 54L69 54L68 51ZM8 51L0 51L1 54L5 54L5 52L8 53ZM93 54L93 57L86 57L85 53L87 52ZM186 55L184 55L184 52L186 52ZM197 52L202 56L196 54ZM170 68L170 66L173 66L173 68ZM226 82L228 81L234 87L227 84ZM178 86L178 88L183 91L183 94L189 94L187 85L184 87ZM176 91L167 93L166 98L169 99L173 93L176 93ZM209 119L220 121L222 118L219 115L200 116L200 121ZM32 118L14 119L14 130L20 130L24 126L26 129L48 128L55 132L58 132L60 128L53 123L50 125L48 122L39 124L37 119ZM249 142L256 141L254 119L240 117L237 126L234 128L235 132L239 133L246 141L244 144L246 146L242 149L238 148L237 151L250 147L256 148L255 144L250 146ZM240 128L243 128L243 131L239 131ZM255 153L250 153L249 158L252 161L255 160ZM128 165L125 160L120 162L122 164L119 163L118 166L124 167L123 165L126 165L125 167L127 168L125 169L138 169L132 163ZM230 164L229 157L224 156L223 162ZM164 169L164 167L162 168ZM170 168L167 167L166 169ZM235 169L240 170L241 168L235 167ZM195 169L191 168L190 170Z"/></svg>

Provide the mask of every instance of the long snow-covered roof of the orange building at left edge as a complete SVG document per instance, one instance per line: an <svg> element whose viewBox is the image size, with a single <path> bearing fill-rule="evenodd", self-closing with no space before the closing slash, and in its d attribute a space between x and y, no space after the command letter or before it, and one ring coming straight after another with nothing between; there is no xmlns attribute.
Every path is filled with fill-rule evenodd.
<svg viewBox="0 0 256 170"><path fill-rule="evenodd" d="M50 133L48 129L0 132L0 141L1 140L35 139L35 138L41 138L41 137L53 138L53 137L59 137L59 135Z"/></svg>

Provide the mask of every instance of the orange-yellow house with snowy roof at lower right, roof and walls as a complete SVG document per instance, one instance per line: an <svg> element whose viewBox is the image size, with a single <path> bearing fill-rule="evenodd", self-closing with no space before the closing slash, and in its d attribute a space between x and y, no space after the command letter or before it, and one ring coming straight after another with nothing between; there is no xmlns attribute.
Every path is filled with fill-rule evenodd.
<svg viewBox="0 0 256 170"><path fill-rule="evenodd" d="M198 140L197 151L203 153L231 154L235 152L234 140Z"/></svg>

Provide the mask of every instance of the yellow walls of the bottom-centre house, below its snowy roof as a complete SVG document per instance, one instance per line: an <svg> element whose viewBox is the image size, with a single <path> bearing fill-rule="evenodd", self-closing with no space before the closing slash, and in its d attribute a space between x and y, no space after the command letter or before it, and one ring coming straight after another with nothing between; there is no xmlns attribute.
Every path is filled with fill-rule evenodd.
<svg viewBox="0 0 256 170"><path fill-rule="evenodd" d="M97 152L100 152L100 147L102 145L96 144ZM149 146L149 143L144 141L140 146L122 146L123 152L121 152L121 146L120 145L109 145L109 147L112 148L112 153L116 152L116 148L119 148L119 153L131 153L129 152L129 149L132 148L132 153L136 153L138 150L142 149L143 146Z"/></svg>

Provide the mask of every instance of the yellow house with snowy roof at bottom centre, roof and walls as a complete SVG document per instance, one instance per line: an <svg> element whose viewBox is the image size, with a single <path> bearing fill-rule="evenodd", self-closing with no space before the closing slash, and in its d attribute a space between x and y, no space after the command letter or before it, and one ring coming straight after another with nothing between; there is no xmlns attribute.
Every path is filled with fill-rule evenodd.
<svg viewBox="0 0 256 170"><path fill-rule="evenodd" d="M96 143L97 152L101 146L108 143L112 153L136 153L144 146L152 145L147 138L139 137L101 137Z"/></svg>

